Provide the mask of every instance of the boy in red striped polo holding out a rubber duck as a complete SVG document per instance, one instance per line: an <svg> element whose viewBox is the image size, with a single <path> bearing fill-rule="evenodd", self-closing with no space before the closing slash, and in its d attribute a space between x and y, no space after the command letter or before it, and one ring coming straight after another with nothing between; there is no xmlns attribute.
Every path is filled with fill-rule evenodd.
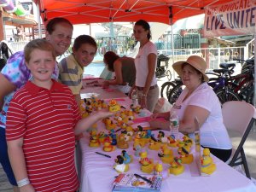
<svg viewBox="0 0 256 192"><path fill-rule="evenodd" d="M32 79L15 93L7 113L9 159L20 191L76 191L75 136L113 113L81 119L67 85L51 79L55 51L48 41L26 44Z"/></svg>

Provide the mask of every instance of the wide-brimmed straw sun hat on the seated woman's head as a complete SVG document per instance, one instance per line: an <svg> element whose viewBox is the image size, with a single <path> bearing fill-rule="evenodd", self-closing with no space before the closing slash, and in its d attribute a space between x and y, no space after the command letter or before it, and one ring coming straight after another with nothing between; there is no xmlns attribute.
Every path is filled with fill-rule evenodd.
<svg viewBox="0 0 256 192"><path fill-rule="evenodd" d="M201 56L192 55L192 56L189 56L187 61L177 61L173 63L172 67L180 77L182 76L182 72L183 72L182 67L184 63L188 63L190 66L194 67L199 72L201 72L203 75L204 81L206 82L209 81L207 74L205 73L207 69L207 62L203 58L201 58Z"/></svg>

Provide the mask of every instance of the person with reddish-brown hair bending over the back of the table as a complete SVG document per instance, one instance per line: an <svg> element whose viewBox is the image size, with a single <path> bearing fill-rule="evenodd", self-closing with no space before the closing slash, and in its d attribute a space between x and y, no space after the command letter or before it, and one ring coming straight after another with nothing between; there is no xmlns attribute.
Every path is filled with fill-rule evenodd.
<svg viewBox="0 0 256 192"><path fill-rule="evenodd" d="M115 54L113 51L108 51L103 58L104 63L107 65L108 70L115 73L115 79L106 80L102 83L103 88L107 88L110 84L113 85L129 85L129 90L125 94L129 94L131 87L135 83L136 68L134 59L131 57Z"/></svg>

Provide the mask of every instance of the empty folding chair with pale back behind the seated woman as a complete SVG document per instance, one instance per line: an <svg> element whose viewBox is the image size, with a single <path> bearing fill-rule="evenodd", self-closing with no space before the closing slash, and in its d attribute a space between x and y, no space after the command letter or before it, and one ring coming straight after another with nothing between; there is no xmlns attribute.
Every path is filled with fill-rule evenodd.
<svg viewBox="0 0 256 192"><path fill-rule="evenodd" d="M246 176L251 178L243 144L246 142L256 119L255 108L247 102L231 101L223 104L222 113L227 130L237 131L241 137L238 147L232 149L230 160L226 163L230 166L243 165Z"/></svg>

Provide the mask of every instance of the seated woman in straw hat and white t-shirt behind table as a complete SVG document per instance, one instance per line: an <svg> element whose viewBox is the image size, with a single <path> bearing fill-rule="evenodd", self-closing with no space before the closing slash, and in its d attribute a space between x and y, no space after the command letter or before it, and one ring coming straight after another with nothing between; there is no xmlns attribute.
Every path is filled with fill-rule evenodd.
<svg viewBox="0 0 256 192"><path fill-rule="evenodd" d="M173 69L182 78L185 89L173 105L179 118L179 131L183 134L195 132L194 119L200 124L201 146L210 148L212 154L224 162L229 160L232 145L224 127L220 102L207 84L205 73L207 63L197 55L189 56L187 61L177 61ZM170 119L170 113L154 113L151 118Z"/></svg>

